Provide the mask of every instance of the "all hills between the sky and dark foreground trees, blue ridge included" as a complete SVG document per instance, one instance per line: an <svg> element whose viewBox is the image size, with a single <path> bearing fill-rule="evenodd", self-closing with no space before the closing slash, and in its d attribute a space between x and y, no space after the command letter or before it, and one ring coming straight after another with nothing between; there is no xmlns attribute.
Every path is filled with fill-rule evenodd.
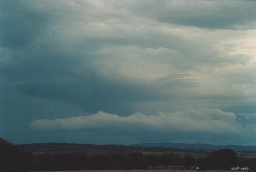
<svg viewBox="0 0 256 172"><path fill-rule="evenodd" d="M181 143L142 143L131 146L119 145L96 145L96 144L78 144L78 143L32 143L19 144L18 147L33 153L85 153L85 154L123 154L129 155L134 152L144 155L160 156L163 154L179 154L180 157L192 156L195 158L205 158L214 151L222 148L232 148L237 150L238 156L244 158L256 158L255 146L242 148L243 146L227 145L215 146L211 144L181 144ZM176 147L176 148L174 148ZM244 150L244 152L242 152ZM252 152L255 151L255 152Z"/></svg>

